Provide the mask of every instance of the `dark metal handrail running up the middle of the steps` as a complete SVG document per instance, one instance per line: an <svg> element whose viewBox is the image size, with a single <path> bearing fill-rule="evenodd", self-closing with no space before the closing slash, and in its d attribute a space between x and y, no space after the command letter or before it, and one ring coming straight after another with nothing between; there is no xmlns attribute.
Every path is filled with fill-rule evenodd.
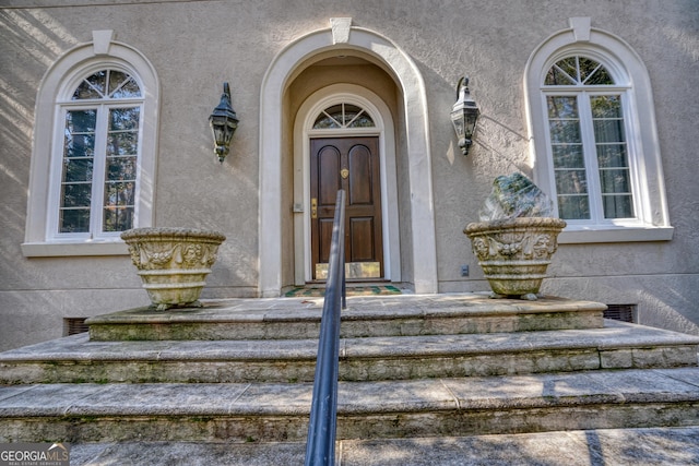
<svg viewBox="0 0 699 466"><path fill-rule="evenodd" d="M313 398L306 442L306 466L335 464L340 310L347 307L345 289L345 192L337 191L330 246L325 300L320 321Z"/></svg>

